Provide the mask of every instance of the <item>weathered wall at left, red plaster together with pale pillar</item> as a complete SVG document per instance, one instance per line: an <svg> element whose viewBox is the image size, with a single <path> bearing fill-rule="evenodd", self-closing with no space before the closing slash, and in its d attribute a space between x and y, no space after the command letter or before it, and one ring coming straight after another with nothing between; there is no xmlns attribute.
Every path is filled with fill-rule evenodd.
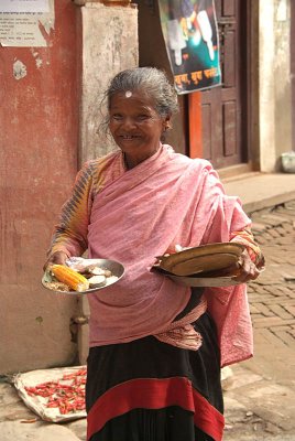
<svg viewBox="0 0 295 441"><path fill-rule="evenodd" d="M43 289L42 267L80 162L113 147L97 135L101 94L138 65L135 8L51 2L46 47L0 47L0 374L72 364L77 343L85 362L88 326L72 319L87 303Z"/></svg>

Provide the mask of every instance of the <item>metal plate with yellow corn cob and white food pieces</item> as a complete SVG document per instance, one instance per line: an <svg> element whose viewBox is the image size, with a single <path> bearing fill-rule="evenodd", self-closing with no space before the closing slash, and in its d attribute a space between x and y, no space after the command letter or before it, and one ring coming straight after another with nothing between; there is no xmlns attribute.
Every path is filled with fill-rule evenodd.
<svg viewBox="0 0 295 441"><path fill-rule="evenodd" d="M90 260L88 259L88 261ZM77 295L108 288L123 277L124 267L120 262L109 259L94 259L94 265L95 268L101 269L101 275L89 277L89 275L81 275L67 266L53 265L44 272L42 284L54 292Z"/></svg>

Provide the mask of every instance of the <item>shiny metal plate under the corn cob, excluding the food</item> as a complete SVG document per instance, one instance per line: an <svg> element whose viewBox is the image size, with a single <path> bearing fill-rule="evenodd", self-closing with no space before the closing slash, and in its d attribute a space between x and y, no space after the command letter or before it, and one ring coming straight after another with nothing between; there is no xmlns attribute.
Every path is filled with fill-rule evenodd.
<svg viewBox="0 0 295 441"><path fill-rule="evenodd" d="M51 282L55 282L57 281L55 279L54 276L52 276L52 273L50 271L45 271L43 275L43 278L41 280L42 284L44 288L46 288L47 290L52 291L52 292L58 292L62 294L70 294L70 295L79 295L79 294L88 294L91 292L96 292L102 289L108 289L108 287L111 287L113 283L117 283L124 275L124 267L122 266L122 263L116 261L116 260L109 260L109 259L88 259L89 262L91 261L91 263L97 265L99 267L101 267L102 269L107 269L109 271L111 271L112 276L117 277L118 279L113 280L112 277L110 277L110 281L108 282L108 278L107 278L107 283L103 287L100 288L90 288L89 290L86 291L62 291L62 290L56 290L56 289L52 289L48 287L48 283Z"/></svg>

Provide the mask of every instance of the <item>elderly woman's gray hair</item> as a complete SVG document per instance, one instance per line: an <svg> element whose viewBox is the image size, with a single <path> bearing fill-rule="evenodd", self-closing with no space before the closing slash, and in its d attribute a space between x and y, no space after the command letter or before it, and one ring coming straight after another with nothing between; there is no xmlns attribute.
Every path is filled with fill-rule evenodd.
<svg viewBox="0 0 295 441"><path fill-rule="evenodd" d="M106 92L108 109L113 95L122 92L141 90L154 100L161 117L172 116L178 110L177 94L164 72L155 67L135 67L117 74Z"/></svg>

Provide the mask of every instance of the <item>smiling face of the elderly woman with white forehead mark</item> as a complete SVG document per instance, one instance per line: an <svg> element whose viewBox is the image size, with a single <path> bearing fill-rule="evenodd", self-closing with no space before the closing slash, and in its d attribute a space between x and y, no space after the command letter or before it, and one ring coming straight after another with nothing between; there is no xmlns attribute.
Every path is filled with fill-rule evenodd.
<svg viewBox="0 0 295 441"><path fill-rule="evenodd" d="M111 98L109 129L127 159L139 163L156 152L170 117L160 117L146 94L130 94L118 93Z"/></svg>

